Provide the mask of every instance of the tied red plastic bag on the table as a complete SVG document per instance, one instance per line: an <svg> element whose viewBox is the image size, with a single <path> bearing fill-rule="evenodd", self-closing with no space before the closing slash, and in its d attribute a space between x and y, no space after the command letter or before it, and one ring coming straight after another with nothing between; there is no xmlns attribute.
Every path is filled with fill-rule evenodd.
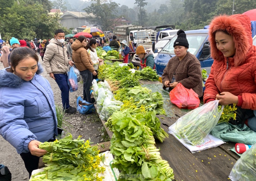
<svg viewBox="0 0 256 181"><path fill-rule="evenodd" d="M195 109L200 104L198 94L192 89L185 88L181 83L171 90L170 100L180 109Z"/></svg>

